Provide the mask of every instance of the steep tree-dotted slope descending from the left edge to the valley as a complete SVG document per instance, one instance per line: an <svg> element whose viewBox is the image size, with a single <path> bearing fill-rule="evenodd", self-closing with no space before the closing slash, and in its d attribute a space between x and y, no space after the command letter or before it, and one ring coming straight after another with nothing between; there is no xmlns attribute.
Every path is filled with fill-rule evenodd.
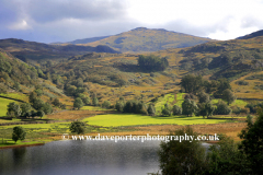
<svg viewBox="0 0 263 175"><path fill-rule="evenodd" d="M59 98L71 104L62 90L48 80L48 73L43 73L39 67L31 66L0 49L0 98L28 102L28 93L38 91L44 102ZM67 101L67 102L65 102Z"/></svg>

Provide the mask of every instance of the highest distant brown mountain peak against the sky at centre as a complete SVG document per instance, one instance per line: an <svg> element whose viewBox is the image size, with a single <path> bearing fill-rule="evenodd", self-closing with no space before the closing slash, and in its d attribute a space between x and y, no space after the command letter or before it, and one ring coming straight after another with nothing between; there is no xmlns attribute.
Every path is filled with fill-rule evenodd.
<svg viewBox="0 0 263 175"><path fill-rule="evenodd" d="M121 52L148 52L168 48L183 48L211 42L209 38L196 37L165 30L149 30L137 27L100 39L96 42L81 44L85 46L106 45Z"/></svg>

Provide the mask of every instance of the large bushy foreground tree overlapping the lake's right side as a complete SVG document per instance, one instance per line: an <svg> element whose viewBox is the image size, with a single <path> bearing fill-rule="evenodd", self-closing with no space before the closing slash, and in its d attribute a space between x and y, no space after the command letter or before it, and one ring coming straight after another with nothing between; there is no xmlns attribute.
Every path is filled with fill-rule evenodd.
<svg viewBox="0 0 263 175"><path fill-rule="evenodd" d="M170 136L194 136L197 133L191 127L184 127L170 133ZM198 140L170 140L161 142L159 162L162 175L202 174L205 168L205 148Z"/></svg>

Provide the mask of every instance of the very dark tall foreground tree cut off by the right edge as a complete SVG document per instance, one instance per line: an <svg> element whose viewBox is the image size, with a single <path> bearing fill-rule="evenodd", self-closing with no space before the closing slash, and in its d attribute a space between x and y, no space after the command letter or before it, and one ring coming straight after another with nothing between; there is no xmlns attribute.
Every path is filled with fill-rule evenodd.
<svg viewBox="0 0 263 175"><path fill-rule="evenodd" d="M259 117L253 124L252 117L248 116L248 126L240 133L243 139L240 150L247 154L252 174L263 174L263 112L259 112Z"/></svg>

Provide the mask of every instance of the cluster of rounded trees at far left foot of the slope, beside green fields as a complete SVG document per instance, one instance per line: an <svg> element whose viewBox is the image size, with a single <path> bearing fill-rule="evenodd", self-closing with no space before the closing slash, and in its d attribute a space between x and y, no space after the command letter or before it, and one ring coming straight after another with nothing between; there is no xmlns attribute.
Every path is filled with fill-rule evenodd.
<svg viewBox="0 0 263 175"><path fill-rule="evenodd" d="M15 102L11 102L8 105L8 113L7 116L9 117L44 117L45 112L39 110L33 110L31 105L28 103L22 103L21 105L16 104Z"/></svg>

